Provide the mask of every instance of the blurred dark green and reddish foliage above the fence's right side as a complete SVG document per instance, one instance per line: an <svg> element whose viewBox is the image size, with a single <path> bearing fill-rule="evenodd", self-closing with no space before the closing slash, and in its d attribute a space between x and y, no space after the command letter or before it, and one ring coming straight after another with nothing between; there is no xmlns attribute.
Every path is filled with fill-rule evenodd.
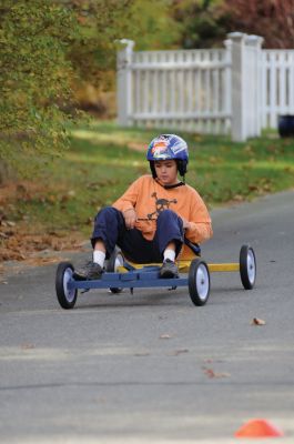
<svg viewBox="0 0 294 444"><path fill-rule="evenodd" d="M294 48L293 0L174 0L172 11L186 49L220 47L231 31L262 36L264 48Z"/></svg>

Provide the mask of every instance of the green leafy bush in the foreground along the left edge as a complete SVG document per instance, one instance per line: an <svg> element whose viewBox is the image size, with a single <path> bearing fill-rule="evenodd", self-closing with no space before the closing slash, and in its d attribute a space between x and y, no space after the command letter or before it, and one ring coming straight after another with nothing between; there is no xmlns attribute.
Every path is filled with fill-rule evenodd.
<svg viewBox="0 0 294 444"><path fill-rule="evenodd" d="M28 169L67 144L61 107L77 23L68 8L42 0L2 0L0 14L0 161Z"/></svg>

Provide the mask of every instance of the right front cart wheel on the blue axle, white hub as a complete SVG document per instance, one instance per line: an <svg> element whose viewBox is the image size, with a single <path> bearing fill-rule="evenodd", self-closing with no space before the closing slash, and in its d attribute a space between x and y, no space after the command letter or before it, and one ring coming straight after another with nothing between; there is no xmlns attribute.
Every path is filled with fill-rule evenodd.
<svg viewBox="0 0 294 444"><path fill-rule="evenodd" d="M206 304L210 296L211 279L206 262L194 259L191 262L187 278L189 293L193 304Z"/></svg>

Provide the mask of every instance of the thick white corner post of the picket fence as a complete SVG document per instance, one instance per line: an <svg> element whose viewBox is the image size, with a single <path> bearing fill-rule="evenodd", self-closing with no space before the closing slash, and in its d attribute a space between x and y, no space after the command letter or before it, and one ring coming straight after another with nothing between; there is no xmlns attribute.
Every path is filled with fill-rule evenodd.
<svg viewBox="0 0 294 444"><path fill-rule="evenodd" d="M260 59L263 39L231 32L232 140L243 142L261 134Z"/></svg>

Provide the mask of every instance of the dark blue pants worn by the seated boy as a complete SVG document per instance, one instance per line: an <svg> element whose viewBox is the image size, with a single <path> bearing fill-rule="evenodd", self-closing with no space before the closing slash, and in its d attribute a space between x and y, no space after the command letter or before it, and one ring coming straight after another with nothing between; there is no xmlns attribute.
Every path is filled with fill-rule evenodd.
<svg viewBox="0 0 294 444"><path fill-rule="evenodd" d="M184 242L183 221L172 210L163 210L156 221L156 232L152 241L143 238L138 229L128 230L123 215L112 206L102 209L95 216L91 238L94 248L97 240L102 240L107 249L107 258L115 245L120 246L130 261L136 263L161 262L163 252L170 242L175 243L175 254Z"/></svg>

